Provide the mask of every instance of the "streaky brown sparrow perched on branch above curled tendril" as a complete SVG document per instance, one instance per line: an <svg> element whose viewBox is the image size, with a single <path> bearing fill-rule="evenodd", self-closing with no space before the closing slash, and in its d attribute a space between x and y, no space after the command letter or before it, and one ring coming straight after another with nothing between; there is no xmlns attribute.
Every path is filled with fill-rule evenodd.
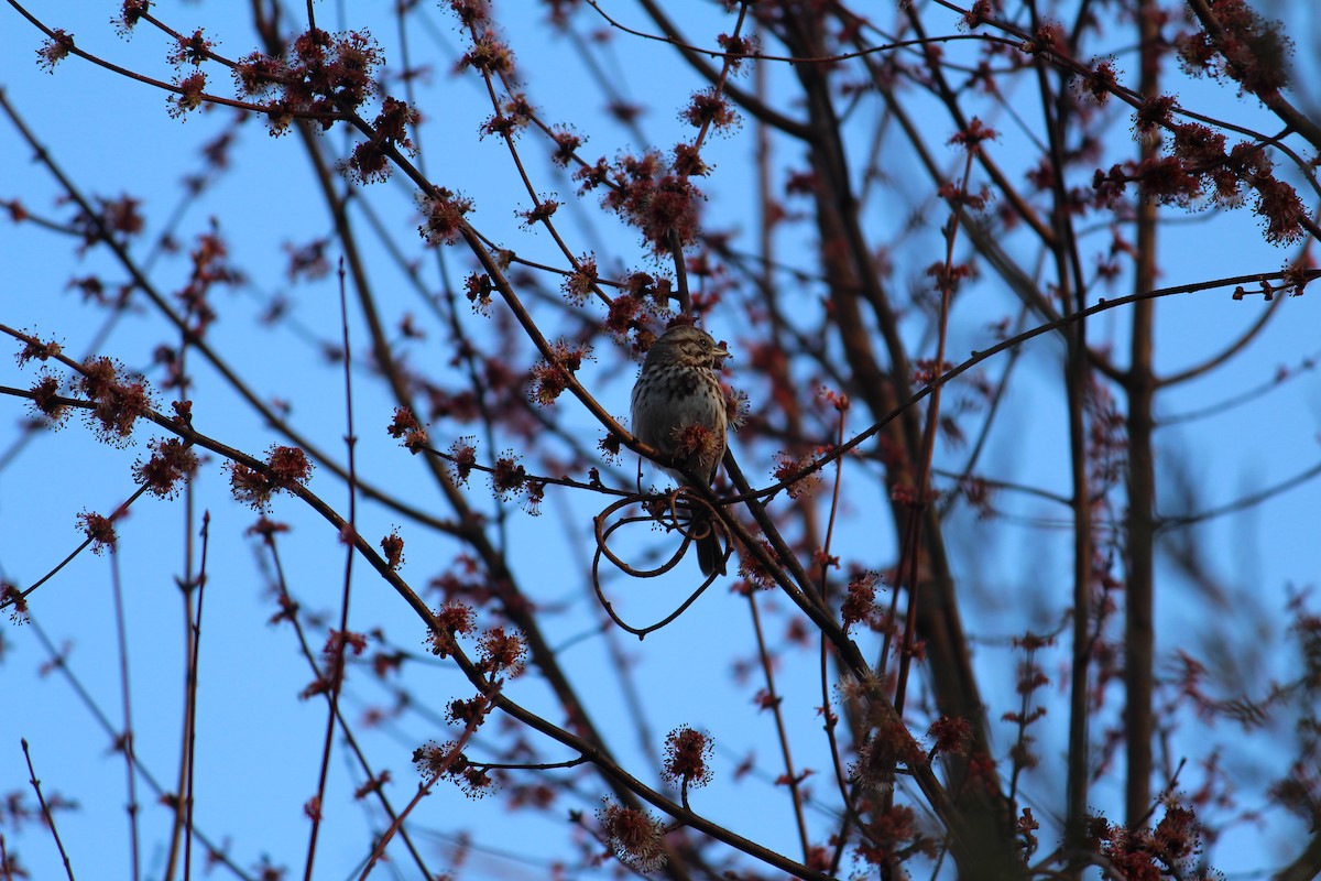
<svg viewBox="0 0 1321 881"><path fill-rule="evenodd" d="M633 433L682 469L666 468L680 486L692 485L683 472L709 486L724 458L725 395L716 371L728 357L705 330L675 325L651 343L633 386ZM701 575L724 575L724 552L709 518L696 515L690 530Z"/></svg>

